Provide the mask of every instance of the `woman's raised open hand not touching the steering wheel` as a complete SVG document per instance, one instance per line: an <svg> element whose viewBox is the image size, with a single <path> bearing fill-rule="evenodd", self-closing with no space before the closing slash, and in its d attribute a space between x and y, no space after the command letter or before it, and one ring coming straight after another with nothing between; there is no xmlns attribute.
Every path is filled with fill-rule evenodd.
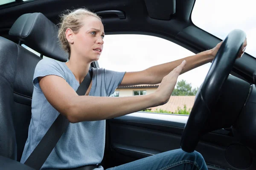
<svg viewBox="0 0 256 170"><path fill-rule="evenodd" d="M183 60L183 62L180 65L178 65L169 74L163 77L161 84L155 91L157 101L159 101L157 105L163 105L169 101L172 91L175 88L177 78L180 75L181 71L184 69L185 65L186 61Z"/></svg>

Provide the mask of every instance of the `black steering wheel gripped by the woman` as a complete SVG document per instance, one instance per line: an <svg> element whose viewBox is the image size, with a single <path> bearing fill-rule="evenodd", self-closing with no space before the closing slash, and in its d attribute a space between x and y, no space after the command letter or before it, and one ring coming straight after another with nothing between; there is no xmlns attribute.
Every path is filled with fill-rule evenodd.
<svg viewBox="0 0 256 170"><path fill-rule="evenodd" d="M194 106L183 130L180 146L185 152L193 152L201 136L209 132L210 129L215 129L209 127L209 124L214 126L209 123L215 116L211 110L218 101L222 85L233 68L245 38L244 31L239 29L231 31L213 59L207 76L198 90ZM218 124L218 122L216 123Z"/></svg>

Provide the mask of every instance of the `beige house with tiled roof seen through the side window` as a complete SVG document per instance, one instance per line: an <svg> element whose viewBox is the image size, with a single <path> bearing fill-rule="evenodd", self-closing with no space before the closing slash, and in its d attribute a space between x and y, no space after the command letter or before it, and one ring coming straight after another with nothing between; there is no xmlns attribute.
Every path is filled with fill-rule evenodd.
<svg viewBox="0 0 256 170"><path fill-rule="evenodd" d="M133 86L123 86L116 88L116 91L111 96L136 96L154 93L157 90L159 84L157 85L133 85ZM186 105L187 110L192 109L195 101L195 96L171 96L169 101L157 107L149 108L151 111L156 111L157 109L175 112L178 107L181 109Z"/></svg>

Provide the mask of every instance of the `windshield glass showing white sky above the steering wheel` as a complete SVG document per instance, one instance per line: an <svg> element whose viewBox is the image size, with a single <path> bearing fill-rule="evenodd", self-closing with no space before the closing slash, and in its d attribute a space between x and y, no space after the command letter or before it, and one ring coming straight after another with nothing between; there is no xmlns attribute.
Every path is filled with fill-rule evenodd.
<svg viewBox="0 0 256 170"><path fill-rule="evenodd" d="M233 29L247 35L246 53L256 57L256 9L254 0L196 0L192 22L224 40Z"/></svg>

